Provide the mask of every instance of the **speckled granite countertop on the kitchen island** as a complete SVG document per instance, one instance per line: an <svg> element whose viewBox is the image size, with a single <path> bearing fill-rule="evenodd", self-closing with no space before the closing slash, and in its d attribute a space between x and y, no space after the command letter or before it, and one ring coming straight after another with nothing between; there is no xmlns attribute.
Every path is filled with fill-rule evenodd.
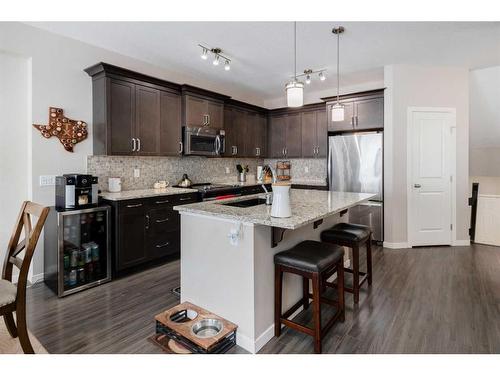
<svg viewBox="0 0 500 375"><path fill-rule="evenodd" d="M223 201L207 201L175 206L181 213L194 213L218 218L237 220L244 223L267 225L285 229L297 229L316 220L339 213L346 208L373 198L375 194L330 192L321 190L290 191L292 216L289 218L271 217L271 206L261 204L253 207L232 207L223 203L251 199L264 194L247 195Z"/></svg>

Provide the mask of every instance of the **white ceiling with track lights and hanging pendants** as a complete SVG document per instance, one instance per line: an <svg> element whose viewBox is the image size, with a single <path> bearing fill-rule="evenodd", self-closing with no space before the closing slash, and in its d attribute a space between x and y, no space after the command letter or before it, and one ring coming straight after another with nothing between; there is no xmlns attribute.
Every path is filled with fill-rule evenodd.
<svg viewBox="0 0 500 375"><path fill-rule="evenodd" d="M293 75L292 22L32 22L33 26L171 70L238 85L262 100L283 96ZM299 22L297 70L327 68L335 87L335 37L341 37L341 84L383 79L388 64L500 65L500 22ZM200 58L198 43L220 47L231 71ZM182 83L182 82L179 82Z"/></svg>

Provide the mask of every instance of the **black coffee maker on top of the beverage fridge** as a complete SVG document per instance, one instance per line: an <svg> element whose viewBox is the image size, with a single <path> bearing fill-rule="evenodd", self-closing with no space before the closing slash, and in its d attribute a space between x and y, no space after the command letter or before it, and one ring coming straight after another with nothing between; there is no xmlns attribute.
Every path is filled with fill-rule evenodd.
<svg viewBox="0 0 500 375"><path fill-rule="evenodd" d="M65 174L56 177L56 209L74 210L95 207L99 191L97 177L88 174Z"/></svg>

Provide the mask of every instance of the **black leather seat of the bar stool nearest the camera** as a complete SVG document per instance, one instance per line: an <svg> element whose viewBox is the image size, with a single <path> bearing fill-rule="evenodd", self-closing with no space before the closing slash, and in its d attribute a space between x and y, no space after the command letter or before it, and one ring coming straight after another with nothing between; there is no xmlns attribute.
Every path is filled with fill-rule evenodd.
<svg viewBox="0 0 500 375"><path fill-rule="evenodd" d="M306 272L322 272L343 256L344 249L340 246L318 241L303 241L289 250L277 253L274 256L274 264Z"/></svg>

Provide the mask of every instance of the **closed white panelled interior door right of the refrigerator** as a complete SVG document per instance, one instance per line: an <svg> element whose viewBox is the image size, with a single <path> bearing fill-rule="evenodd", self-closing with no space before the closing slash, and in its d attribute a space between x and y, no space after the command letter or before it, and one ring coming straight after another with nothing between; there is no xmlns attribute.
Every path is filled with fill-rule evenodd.
<svg viewBox="0 0 500 375"><path fill-rule="evenodd" d="M452 243L452 111L409 110L408 240L410 246Z"/></svg>

